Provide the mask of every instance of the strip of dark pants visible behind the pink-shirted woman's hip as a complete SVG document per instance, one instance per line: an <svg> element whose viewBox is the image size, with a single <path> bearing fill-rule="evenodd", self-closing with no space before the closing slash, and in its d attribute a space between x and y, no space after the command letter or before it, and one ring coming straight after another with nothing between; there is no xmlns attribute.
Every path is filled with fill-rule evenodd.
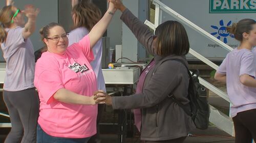
<svg viewBox="0 0 256 143"><path fill-rule="evenodd" d="M101 120L104 108L105 108L105 104L98 104L97 133L90 138L88 143L100 143L101 142L101 140L100 140L100 133L99 133L99 122Z"/></svg>

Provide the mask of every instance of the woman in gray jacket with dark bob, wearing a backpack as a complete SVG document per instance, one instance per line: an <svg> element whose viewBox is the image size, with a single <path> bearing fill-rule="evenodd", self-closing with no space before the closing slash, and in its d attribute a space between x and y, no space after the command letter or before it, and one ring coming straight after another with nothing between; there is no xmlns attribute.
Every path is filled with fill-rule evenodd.
<svg viewBox="0 0 256 143"><path fill-rule="evenodd" d="M110 0L122 12L121 20L130 28L138 41L154 55L154 62L141 74L137 86L141 93L110 97L105 93L105 103L113 109L141 109L141 140L145 142L183 142L194 123L185 111L168 97L173 94L189 108L185 54L189 42L185 28L178 21L166 21L156 28L155 35L139 21L120 0Z"/></svg>

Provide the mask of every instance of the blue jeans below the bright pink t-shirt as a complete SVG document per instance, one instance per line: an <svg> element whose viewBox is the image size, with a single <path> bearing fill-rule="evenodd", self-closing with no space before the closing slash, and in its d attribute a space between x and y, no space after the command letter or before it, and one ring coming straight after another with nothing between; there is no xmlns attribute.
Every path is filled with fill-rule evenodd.
<svg viewBox="0 0 256 143"><path fill-rule="evenodd" d="M90 137L86 138L65 138L65 137L55 137L47 134L40 125L37 125L37 143L87 143Z"/></svg>

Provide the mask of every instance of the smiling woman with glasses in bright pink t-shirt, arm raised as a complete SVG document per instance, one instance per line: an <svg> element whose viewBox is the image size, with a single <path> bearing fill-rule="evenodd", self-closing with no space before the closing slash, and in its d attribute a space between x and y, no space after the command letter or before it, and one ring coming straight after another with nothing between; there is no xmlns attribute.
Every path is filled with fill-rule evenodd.
<svg viewBox="0 0 256 143"><path fill-rule="evenodd" d="M90 33L70 46L68 34L57 23L41 28L47 51L35 66L34 84L40 99L37 143L84 143L96 134L97 91L96 75L90 65L94 60L92 48L102 37L115 8L95 24Z"/></svg>

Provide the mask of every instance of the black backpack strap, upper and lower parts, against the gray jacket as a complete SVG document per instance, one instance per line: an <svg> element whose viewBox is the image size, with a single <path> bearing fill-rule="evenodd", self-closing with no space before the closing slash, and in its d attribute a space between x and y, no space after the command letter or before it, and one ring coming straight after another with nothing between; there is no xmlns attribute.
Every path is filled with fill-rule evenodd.
<svg viewBox="0 0 256 143"><path fill-rule="evenodd" d="M172 59L172 61L177 61L177 62L180 62L182 65L184 65L187 69L189 78L192 79L192 75L191 75L190 71L188 70L188 67L186 66L184 61L182 61L180 59ZM190 82L190 79L189 79L189 82ZM172 93L170 93L168 95L168 97L171 98L174 102L176 102L187 113L187 115L191 116L191 111L189 109L187 109L180 101L178 101Z"/></svg>

